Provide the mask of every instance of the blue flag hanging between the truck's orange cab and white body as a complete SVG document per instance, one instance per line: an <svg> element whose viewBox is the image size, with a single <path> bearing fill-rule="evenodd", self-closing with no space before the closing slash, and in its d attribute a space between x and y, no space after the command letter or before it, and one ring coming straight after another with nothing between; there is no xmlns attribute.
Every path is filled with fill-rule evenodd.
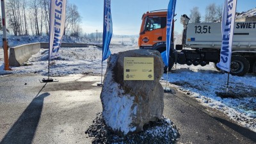
<svg viewBox="0 0 256 144"><path fill-rule="evenodd" d="M175 14L176 0L170 0L168 4L167 12L167 27L166 27L166 54L161 54L163 57L164 65L169 65L169 55L170 55L170 45L172 43L172 33L173 33L173 17ZM165 58L164 58L165 56Z"/></svg>

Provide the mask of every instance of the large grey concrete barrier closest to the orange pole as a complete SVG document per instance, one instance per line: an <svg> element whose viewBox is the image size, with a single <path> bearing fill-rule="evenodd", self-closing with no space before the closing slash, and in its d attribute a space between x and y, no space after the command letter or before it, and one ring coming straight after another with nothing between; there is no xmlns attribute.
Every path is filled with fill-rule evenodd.
<svg viewBox="0 0 256 144"><path fill-rule="evenodd" d="M9 65L20 66L40 51L40 43L19 45L10 48Z"/></svg>

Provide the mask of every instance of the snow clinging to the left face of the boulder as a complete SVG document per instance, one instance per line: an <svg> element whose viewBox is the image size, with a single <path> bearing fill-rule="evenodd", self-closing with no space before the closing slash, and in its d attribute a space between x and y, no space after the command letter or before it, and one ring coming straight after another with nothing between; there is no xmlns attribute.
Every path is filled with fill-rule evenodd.
<svg viewBox="0 0 256 144"><path fill-rule="evenodd" d="M115 57L111 60L113 63L116 61ZM113 74L111 72L108 72L108 76L106 76L104 81L112 81L110 85L104 84L100 95L104 107L102 116L106 124L114 131L121 131L124 134L135 131L136 127L131 127L131 115L136 115L137 112L137 106L133 106L134 96L122 95L124 90L113 80Z"/></svg>

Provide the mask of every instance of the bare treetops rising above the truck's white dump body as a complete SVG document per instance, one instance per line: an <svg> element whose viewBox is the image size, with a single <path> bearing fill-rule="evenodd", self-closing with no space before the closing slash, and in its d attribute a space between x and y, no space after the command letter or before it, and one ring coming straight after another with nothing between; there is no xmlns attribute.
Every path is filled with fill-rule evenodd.
<svg viewBox="0 0 256 144"><path fill-rule="evenodd" d="M216 5L215 3L209 4L205 8L204 22L217 22L221 21L222 18L223 5ZM200 23L202 21L201 13L197 6L190 10L189 15L190 21L192 23Z"/></svg>

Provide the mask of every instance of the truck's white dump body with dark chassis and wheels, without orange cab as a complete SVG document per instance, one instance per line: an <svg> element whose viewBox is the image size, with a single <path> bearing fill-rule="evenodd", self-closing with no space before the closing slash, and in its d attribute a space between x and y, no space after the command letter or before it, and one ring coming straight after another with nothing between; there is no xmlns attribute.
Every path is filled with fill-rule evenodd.
<svg viewBox="0 0 256 144"><path fill-rule="evenodd" d="M189 18L182 15L180 22L184 24L183 49L177 56L177 63L205 66L209 62L220 61L221 22L188 23ZM216 67L218 69L218 67ZM235 22L232 44L232 60L230 74L244 76L247 72L256 71L256 22Z"/></svg>

